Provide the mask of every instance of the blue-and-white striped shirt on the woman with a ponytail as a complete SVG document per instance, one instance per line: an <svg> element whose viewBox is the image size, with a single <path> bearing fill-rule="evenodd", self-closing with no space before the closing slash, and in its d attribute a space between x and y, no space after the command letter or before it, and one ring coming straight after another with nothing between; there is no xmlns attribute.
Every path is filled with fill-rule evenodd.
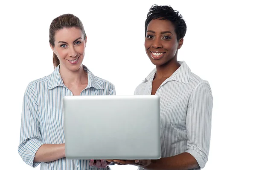
<svg viewBox="0 0 256 170"><path fill-rule="evenodd" d="M88 75L88 85L80 95L116 95L113 84L96 77L86 66L83 68ZM109 170L109 167L90 167L88 160L61 158L33 162L42 144L65 143L62 98L66 95L73 94L64 85L59 66L52 74L29 83L23 98L18 153L31 167L41 163L41 170Z"/></svg>

